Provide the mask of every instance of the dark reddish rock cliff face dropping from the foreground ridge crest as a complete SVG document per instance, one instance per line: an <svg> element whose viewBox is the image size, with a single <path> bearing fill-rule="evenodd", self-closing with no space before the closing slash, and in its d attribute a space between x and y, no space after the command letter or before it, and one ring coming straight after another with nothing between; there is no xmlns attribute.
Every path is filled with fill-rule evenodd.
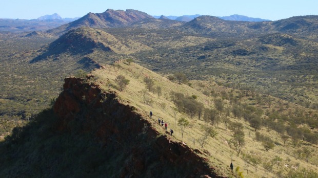
<svg viewBox="0 0 318 178"><path fill-rule="evenodd" d="M65 79L54 105L59 131L91 132L110 151L118 177L224 177L184 143L160 136L135 107L83 79ZM107 175L106 175L107 176ZM108 176L114 176L110 172Z"/></svg>

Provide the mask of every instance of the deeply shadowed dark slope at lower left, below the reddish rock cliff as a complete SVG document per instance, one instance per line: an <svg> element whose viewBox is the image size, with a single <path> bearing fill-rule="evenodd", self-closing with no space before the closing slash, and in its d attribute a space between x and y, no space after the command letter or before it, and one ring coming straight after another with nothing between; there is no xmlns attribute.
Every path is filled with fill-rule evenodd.
<svg viewBox="0 0 318 178"><path fill-rule="evenodd" d="M113 152L91 133L58 132L56 116L44 110L0 142L0 177L102 177L115 175ZM75 123L73 123L75 124ZM116 154L117 156L120 153Z"/></svg>

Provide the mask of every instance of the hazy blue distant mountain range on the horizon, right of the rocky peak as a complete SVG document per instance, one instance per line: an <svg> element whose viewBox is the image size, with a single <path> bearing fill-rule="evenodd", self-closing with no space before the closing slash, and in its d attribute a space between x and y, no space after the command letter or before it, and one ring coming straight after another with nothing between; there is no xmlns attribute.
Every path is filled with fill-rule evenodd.
<svg viewBox="0 0 318 178"><path fill-rule="evenodd" d="M153 16L154 18L160 18L160 19L170 19L170 20L177 20L177 21L191 21L194 18L201 16L201 15L183 15L183 16ZM224 20L232 20L232 21L271 21L267 19L262 19L262 18L253 18L253 17L248 17L244 15L230 15L230 16L224 16L224 17L218 17Z"/></svg>

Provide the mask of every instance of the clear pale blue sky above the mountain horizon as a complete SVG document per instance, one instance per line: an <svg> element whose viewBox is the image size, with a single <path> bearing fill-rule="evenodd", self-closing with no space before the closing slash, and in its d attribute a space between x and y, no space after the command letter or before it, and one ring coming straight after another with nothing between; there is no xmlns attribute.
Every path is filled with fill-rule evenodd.
<svg viewBox="0 0 318 178"><path fill-rule="evenodd" d="M317 0L2 0L0 18L34 19L57 13L65 17L82 17L89 12L107 9L135 9L149 15L212 15L233 14L278 20L299 15L318 15Z"/></svg>

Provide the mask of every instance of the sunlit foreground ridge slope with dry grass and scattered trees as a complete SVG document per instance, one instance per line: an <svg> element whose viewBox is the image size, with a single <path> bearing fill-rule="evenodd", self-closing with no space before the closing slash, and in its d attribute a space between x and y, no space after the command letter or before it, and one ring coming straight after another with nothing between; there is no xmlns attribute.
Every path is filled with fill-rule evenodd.
<svg viewBox="0 0 318 178"><path fill-rule="evenodd" d="M116 84L118 75L123 75L129 80L129 84L121 92ZM149 86L144 82L145 78L153 81L150 91ZM154 114L151 119L153 127L162 132L162 134L167 134L164 127L157 123L158 118L163 119L168 123L168 128L174 130L174 139L185 142L193 149L200 150L202 155L209 159L211 165L217 167L219 171L228 176L231 175L228 169L231 161L233 161L235 167L241 167L245 177L271 177L277 175L288 177L288 173L291 175L294 173L293 171L299 171L302 168L308 171L316 170L318 163L315 161L316 155L314 152L317 151L317 146L315 145L317 140L309 143L309 140L306 139L306 137L309 137L307 135L304 138L307 141L302 141L299 136L293 135L293 133L288 131L292 127L292 129L299 130L296 132L299 132L302 136L313 134L315 135L313 137L317 137L316 127L315 129L310 129L306 123L300 124L294 120L300 114L300 110L303 110L303 115L307 115L308 119L316 120L317 113L313 110L270 96L258 95L258 97L262 98L262 101L256 103L256 93L233 90L217 85L214 81L190 81L192 87L187 84L178 84L177 81L172 82L135 63L128 64L125 61L115 63L114 66L106 66L106 69L103 70L92 71L90 80L100 85L105 91L117 88L118 97L123 102L136 107L138 111L142 111L145 118L149 117L151 110ZM157 88L161 88L161 92L158 92ZM207 96L203 94L204 91L213 91L213 94L206 93L210 95ZM177 104L175 104L178 102L173 102L174 96L172 93L181 93L185 98L188 97L187 100L190 100L191 103L197 103L196 105L202 109L201 118L198 118L198 112L200 111L198 108L192 108L193 106L181 104L179 110ZM218 110L216 102L220 102L220 100L224 103L224 108ZM267 100L270 101L267 102ZM186 103L186 101L183 101L183 103ZM191 110L191 108L194 110ZM204 112L204 108L214 110L215 118L213 122L211 118L209 119L209 114ZM233 112L235 109L241 110L242 113ZM304 113L305 110L310 114ZM288 115L288 113L291 115ZM288 118L286 122L283 120L284 116ZM190 127L185 129L183 136L180 127L177 125L178 119L181 118L186 118L191 123ZM229 120L227 121L226 118ZM227 129L224 123L225 120L228 124ZM260 126L254 128L255 126L252 126L253 120L259 120ZM233 128L231 129L231 126L229 126L230 123L242 124L242 130L245 134L245 145L238 156L235 146L231 143L235 133ZM214 138L207 139L202 148L200 139L205 134L203 126L207 125L211 125L218 134ZM281 135L289 135L287 136L287 141L282 140ZM266 151L264 147L265 141L263 140L262 142L260 137L269 139L274 146ZM308 162L303 157L303 149L308 149L312 152ZM297 151L301 151L301 153L295 154ZM257 160L257 163L254 163L250 158ZM280 158L278 162L275 161L277 158ZM253 164L254 166L252 166Z"/></svg>

